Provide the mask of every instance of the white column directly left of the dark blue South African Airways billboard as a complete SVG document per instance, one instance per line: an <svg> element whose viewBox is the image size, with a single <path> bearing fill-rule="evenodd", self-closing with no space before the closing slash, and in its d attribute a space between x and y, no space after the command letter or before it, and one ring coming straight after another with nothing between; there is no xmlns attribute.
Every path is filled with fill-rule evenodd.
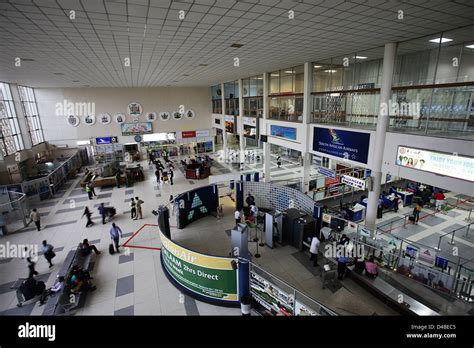
<svg viewBox="0 0 474 348"><path fill-rule="evenodd" d="M304 63L304 80L303 80L303 125L305 126L305 133L302 139L304 144L304 151L302 152L303 157L303 168L302 174L302 191L309 191L309 175L311 173L311 154L309 151L309 134L310 127L309 121L311 119L311 111L313 109L313 98L311 96L313 86L313 64L311 62Z"/></svg>

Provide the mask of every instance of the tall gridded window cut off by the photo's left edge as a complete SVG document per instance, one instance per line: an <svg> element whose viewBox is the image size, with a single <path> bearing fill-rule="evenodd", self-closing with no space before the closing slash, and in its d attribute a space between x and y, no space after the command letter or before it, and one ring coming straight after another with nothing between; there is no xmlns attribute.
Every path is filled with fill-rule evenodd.
<svg viewBox="0 0 474 348"><path fill-rule="evenodd" d="M2 140L0 146L4 156L25 148L10 85L3 82L0 82L0 127Z"/></svg>

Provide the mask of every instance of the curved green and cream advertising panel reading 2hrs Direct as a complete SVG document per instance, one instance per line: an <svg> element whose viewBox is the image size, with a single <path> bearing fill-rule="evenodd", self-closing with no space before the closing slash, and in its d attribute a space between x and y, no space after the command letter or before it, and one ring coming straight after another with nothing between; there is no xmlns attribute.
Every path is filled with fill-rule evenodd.
<svg viewBox="0 0 474 348"><path fill-rule="evenodd" d="M160 232L164 267L186 289L214 300L238 301L236 259L209 256L185 249Z"/></svg>

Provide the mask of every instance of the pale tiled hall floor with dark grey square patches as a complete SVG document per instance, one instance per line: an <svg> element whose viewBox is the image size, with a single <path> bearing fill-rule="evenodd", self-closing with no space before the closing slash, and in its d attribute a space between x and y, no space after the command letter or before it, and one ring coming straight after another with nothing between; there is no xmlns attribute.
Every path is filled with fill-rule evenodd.
<svg viewBox="0 0 474 348"><path fill-rule="evenodd" d="M275 159L276 160L276 157ZM40 245L41 241L46 239L55 246L56 257L53 260L54 267L48 268L44 257L40 257L37 263L37 271L45 279L47 286L51 286L56 274L61 267L66 255L72 248L84 238L88 238L92 244L95 244L99 250L103 251L95 257L93 270L94 283L97 290L91 292L86 300L86 305L77 310L76 315L240 315L239 308L223 308L209 305L182 294L166 278L163 273L160 261L160 253L157 250L122 248L120 254L109 255L107 252L110 243L109 229L110 223L102 225L101 218L98 215L97 207L100 203L108 206L114 206L117 209L117 215L113 221L122 229L124 236L121 243L124 243L134 235L144 224L156 224L156 217L151 214L160 204L168 203L170 195L177 195L192 188L206 185L207 180L194 180L194 184L186 180L179 170L175 170L174 185L160 183L157 185L153 175L153 169L148 170L146 163L142 164L145 168L145 181L136 183L133 188L97 188L98 197L92 201L88 200L85 193L79 194L79 180L76 178L70 182L67 190L61 192L62 199L56 195L54 200L41 202L39 206L40 213L47 214L42 216L42 226L44 228L37 232L34 227L27 229L27 232L19 232L4 237L5 242L13 244L34 244ZM262 163L248 163L246 170L255 170L261 168ZM229 163L219 163L215 168L216 173L225 173L235 171L234 166ZM290 161L283 161L284 170L272 172L275 174L287 173L288 176L294 176L297 166ZM281 169L281 168L280 168ZM282 176L284 178L284 176ZM280 178L278 178L280 179ZM152 189L155 188L155 190ZM139 196L145 201L143 204L144 218L142 220L131 220L128 198L131 195ZM71 206L71 200L74 206ZM230 238L226 233L233 227L233 202L224 198L224 218L217 220L208 216L194 222L186 227L185 230L172 230L173 238L185 246L194 248L196 251L210 253L215 255L227 256L230 252ZM95 224L90 228L85 228L85 218L82 217L84 207L88 206L93 213ZM401 212L400 212L401 213ZM461 214L462 215L462 214ZM446 220L441 228L450 228L457 224L462 224L463 216L452 217L433 217L426 221L436 221L437 218ZM396 215L386 214L383 221L388 221ZM171 217L171 224L174 217ZM432 220L435 219L435 220ZM452 227L451 226L451 227ZM398 231L399 230L399 231ZM408 229L399 228L394 233L415 236L418 240L429 237L422 235L426 231L436 232L436 229L425 224L423 220L418 226L411 226ZM421 234L420 234L421 233ZM253 231L252 234L253 236ZM428 241L427 241L428 242ZM466 243L471 243L467 242ZM152 229L139 233L134 237L131 245L147 245L160 247L160 241L157 233ZM256 243L250 243L250 252L256 252ZM279 247L269 249L259 247L262 255L254 261L261 265L268 272L280 277L287 283L293 285L300 291L314 297L320 302L337 306L336 311L350 314L354 311L360 313L374 312L378 314L394 314L383 303L373 298L370 294L361 289L357 284L350 280L344 280L339 284L339 289L322 289L321 280L317 276L318 270L311 268L305 261L309 255L297 253L292 247ZM38 304L23 307L21 310L16 308L15 292L10 289L11 284L19 277L27 275L25 260L18 258L0 259L0 313L3 314L21 314L41 315L43 307ZM341 299L338 303L335 299ZM356 304L349 306L349 304ZM354 307L354 308L353 308Z"/></svg>

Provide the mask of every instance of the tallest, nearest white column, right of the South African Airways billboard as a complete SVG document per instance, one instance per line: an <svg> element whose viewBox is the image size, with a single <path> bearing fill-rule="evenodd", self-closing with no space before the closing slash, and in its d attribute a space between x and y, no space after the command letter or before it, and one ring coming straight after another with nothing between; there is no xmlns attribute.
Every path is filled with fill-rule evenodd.
<svg viewBox="0 0 474 348"><path fill-rule="evenodd" d="M372 191L369 191L367 213L365 217L365 226L370 230L375 230L375 222L377 219L377 207L380 196L382 182L382 161L385 148L385 135L389 125L388 106L392 92L392 77L395 58L397 55L397 44L385 44L383 55L382 85L380 88L380 107L377 117L377 131L375 133L374 157L372 169Z"/></svg>

